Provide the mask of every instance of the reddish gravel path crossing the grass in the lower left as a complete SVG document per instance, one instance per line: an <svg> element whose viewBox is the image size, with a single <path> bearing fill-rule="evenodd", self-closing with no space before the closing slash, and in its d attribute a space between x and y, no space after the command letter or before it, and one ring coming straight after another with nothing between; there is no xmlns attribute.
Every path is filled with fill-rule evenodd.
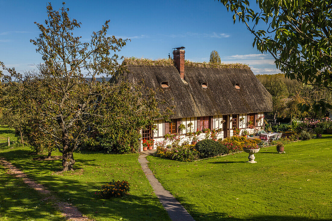
<svg viewBox="0 0 332 221"><path fill-rule="evenodd" d="M33 188L37 190L42 195L45 195L45 198L43 200L46 200L47 202L50 202L59 209L62 212L62 215L66 217L67 220L70 221L92 221L91 219L85 217L82 215L78 209L67 203L60 201L56 196L53 195L53 193L46 189L43 185L38 184L34 182L33 180L29 179L27 175L25 175L22 171L17 169L14 165L12 165L10 162L6 161L3 158L0 158L0 163L6 168L8 173L13 174L17 178L21 178L24 183L28 184L30 188Z"/></svg>

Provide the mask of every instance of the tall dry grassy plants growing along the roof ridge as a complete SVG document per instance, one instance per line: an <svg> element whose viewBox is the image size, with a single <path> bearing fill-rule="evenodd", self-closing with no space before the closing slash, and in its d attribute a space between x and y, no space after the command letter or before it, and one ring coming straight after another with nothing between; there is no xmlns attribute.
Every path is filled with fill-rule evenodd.
<svg viewBox="0 0 332 221"><path fill-rule="evenodd" d="M151 60L148 58L137 58L137 57L125 57L123 65L146 65L146 66L173 66L174 60L171 58L159 58L157 60ZM233 64L214 64L210 62L193 62L185 60L185 66L188 67L205 67L205 68L249 68L246 64L233 63Z"/></svg>

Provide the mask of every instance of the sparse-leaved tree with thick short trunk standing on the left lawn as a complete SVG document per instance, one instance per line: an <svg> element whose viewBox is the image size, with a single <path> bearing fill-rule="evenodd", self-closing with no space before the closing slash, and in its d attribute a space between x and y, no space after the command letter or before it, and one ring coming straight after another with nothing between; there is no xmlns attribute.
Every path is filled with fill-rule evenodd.
<svg viewBox="0 0 332 221"><path fill-rule="evenodd" d="M44 60L40 75L23 77L2 64L22 82L10 83L17 90L7 91L3 106L27 114L41 133L54 139L62 153L64 171L73 170L73 151L96 133L120 131L124 135L118 136L121 145L137 146L139 129L155 118L167 117L167 110L157 108L152 90L127 82L112 85L96 81L100 74L125 73L116 52L128 39L108 37L107 21L100 31L93 32L89 42L81 42L81 37L73 34L81 24L68 17L64 3L59 11L53 11L51 4L46 8L45 26L36 23L41 34L31 40ZM133 134L136 137L130 136Z"/></svg>

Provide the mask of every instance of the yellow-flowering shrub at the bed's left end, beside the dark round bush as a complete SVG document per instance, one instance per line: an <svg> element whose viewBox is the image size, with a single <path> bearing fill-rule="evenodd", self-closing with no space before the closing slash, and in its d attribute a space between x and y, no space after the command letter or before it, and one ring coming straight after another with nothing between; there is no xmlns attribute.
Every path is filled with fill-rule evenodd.
<svg viewBox="0 0 332 221"><path fill-rule="evenodd" d="M199 153L195 149L195 145L182 145L173 147L171 150L167 150L163 147L157 147L157 150L153 155L171 160L190 162L197 160Z"/></svg>

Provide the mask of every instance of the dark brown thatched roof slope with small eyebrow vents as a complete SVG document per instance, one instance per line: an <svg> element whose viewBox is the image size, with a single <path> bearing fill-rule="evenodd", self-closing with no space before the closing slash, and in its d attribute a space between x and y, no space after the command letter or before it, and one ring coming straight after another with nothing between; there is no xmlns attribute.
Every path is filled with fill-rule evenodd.
<svg viewBox="0 0 332 221"><path fill-rule="evenodd" d="M171 118L272 111L272 97L247 66L206 68L185 66L185 84L173 65L126 65L129 82L144 80L146 87L162 90ZM111 81L115 82L115 76ZM162 88L161 82L168 82ZM207 88L202 88L207 83ZM235 84L240 89L235 89Z"/></svg>

